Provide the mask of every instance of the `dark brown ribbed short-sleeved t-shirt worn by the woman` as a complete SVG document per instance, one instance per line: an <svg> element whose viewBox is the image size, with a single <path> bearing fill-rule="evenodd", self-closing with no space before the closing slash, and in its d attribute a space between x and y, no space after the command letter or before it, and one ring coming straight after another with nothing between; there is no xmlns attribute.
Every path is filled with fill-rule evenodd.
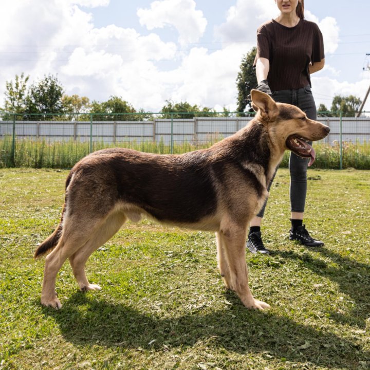
<svg viewBox="0 0 370 370"><path fill-rule="evenodd" d="M316 23L300 20L297 26L286 27L275 20L257 29L258 58L270 62L267 76L270 89L298 89L311 84L308 66L324 58L322 33Z"/></svg>

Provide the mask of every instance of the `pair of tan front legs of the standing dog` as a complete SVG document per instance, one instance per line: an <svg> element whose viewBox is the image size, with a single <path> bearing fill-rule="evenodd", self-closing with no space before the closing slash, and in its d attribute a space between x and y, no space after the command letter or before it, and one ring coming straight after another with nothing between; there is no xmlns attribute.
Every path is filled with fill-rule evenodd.
<svg viewBox="0 0 370 370"><path fill-rule="evenodd" d="M221 228L217 235L218 264L221 274L224 273L226 286L237 293L246 307L262 310L270 308L267 303L254 299L250 291L245 261L245 243L246 228L232 224ZM226 261L221 260L220 263L220 256L226 257ZM227 264L227 269L225 264Z"/></svg>

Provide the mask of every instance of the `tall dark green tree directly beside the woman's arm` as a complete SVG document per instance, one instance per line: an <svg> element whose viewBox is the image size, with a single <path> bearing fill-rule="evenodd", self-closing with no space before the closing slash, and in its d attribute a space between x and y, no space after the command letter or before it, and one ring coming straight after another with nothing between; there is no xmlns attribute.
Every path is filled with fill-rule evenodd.
<svg viewBox="0 0 370 370"><path fill-rule="evenodd" d="M254 47L245 55L237 74L236 86L238 96L236 110L240 112L240 116L246 116L243 112L246 108L249 110L252 107L248 101L248 95L250 95L250 91L257 86L257 78L253 68L256 52L257 49Z"/></svg>

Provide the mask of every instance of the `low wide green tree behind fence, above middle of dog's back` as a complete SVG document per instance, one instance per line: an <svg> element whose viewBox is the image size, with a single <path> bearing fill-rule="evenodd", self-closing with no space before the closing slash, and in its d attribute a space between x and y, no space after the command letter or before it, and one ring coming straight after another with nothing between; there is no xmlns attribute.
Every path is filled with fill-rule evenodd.
<svg viewBox="0 0 370 370"><path fill-rule="evenodd" d="M214 117L215 111L211 108L200 108L197 105L191 105L188 102L174 103L166 100L160 111L161 118L194 118L194 117Z"/></svg>

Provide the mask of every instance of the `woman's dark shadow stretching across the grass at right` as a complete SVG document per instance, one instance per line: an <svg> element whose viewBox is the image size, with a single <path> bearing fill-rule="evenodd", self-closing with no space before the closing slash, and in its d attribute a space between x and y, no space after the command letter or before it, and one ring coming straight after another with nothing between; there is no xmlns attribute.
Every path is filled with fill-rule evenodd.
<svg viewBox="0 0 370 370"><path fill-rule="evenodd" d="M306 253L280 251L275 254L279 254L284 259L301 260L305 268L338 284L341 292L350 297L355 305L350 315L332 311L328 312L330 317L342 324L355 325L364 329L370 312L370 266L343 257L327 248L318 248L316 251L329 258L334 266L327 266L327 263L320 258L314 258Z"/></svg>

